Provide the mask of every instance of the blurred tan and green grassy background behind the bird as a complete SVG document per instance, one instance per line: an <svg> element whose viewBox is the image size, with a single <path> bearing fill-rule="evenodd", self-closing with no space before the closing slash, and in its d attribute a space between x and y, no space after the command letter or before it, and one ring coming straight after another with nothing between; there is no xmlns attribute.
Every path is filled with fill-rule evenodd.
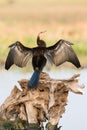
<svg viewBox="0 0 87 130"><path fill-rule="evenodd" d="M87 1L86 0L1 0L0 1L0 63L4 63L8 45L19 40L24 45L36 45L40 31L47 45L59 39L75 45L77 55L87 65Z"/></svg>

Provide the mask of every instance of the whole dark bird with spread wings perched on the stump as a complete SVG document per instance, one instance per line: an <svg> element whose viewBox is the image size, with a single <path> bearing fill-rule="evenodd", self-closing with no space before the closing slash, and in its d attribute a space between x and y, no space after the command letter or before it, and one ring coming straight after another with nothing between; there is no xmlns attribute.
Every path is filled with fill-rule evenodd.
<svg viewBox="0 0 87 130"><path fill-rule="evenodd" d="M39 75L46 65L47 60L54 63L56 66L68 61L79 68L80 62L76 56L74 50L71 47L71 43L65 40L59 40L56 44L50 47L46 47L46 43L37 37L37 47L28 48L22 45L19 41L10 45L10 51L8 53L5 69L9 69L13 64L24 67L27 65L30 57L32 57L32 66L34 73L28 83L28 88L36 88L38 86Z"/></svg>

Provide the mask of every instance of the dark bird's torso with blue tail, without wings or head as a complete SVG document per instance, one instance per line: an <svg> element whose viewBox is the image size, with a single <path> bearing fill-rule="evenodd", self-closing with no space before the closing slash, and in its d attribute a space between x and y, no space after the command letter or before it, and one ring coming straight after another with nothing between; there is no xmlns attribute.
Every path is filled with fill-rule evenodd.
<svg viewBox="0 0 87 130"><path fill-rule="evenodd" d="M34 73L30 79L30 82L28 83L29 88L32 88L32 86L33 88L36 88L38 86L40 72L43 70L47 62L44 52L44 47L33 48L32 66Z"/></svg>

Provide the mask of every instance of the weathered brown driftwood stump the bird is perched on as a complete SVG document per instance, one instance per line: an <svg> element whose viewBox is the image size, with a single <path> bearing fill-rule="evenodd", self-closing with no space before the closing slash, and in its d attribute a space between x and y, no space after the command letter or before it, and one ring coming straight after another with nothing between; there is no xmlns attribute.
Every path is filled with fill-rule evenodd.
<svg viewBox="0 0 87 130"><path fill-rule="evenodd" d="M28 80L18 81L21 90L14 86L10 96L0 106L0 117L10 121L19 118L28 121L30 126L39 124L39 127L47 119L46 130L57 130L57 124L65 112L68 92L82 94L84 86L78 84L79 76L78 74L70 79L55 80L42 73L36 90L27 89Z"/></svg>

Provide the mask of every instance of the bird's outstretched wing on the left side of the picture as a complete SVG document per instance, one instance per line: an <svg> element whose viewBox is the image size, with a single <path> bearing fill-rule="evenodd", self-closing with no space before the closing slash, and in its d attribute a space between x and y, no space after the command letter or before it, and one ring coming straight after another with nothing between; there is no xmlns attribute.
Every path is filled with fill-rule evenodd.
<svg viewBox="0 0 87 130"><path fill-rule="evenodd" d="M5 69L9 69L13 64L24 67L32 56L32 49L23 46L19 41L9 46L10 51L8 53Z"/></svg>

